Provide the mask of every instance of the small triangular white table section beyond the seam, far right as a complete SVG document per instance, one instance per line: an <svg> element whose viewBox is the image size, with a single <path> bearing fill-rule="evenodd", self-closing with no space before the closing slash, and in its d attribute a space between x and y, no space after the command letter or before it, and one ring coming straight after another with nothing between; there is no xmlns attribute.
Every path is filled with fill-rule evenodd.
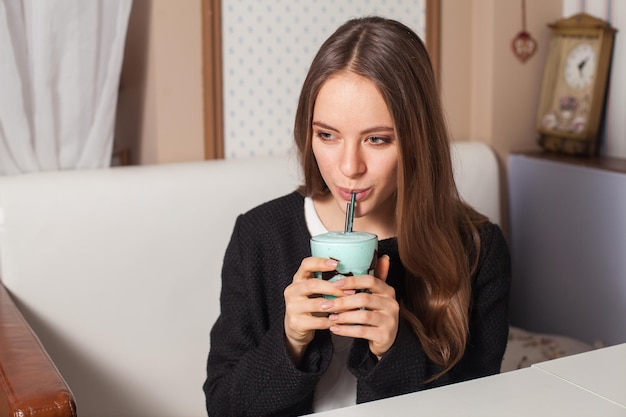
<svg viewBox="0 0 626 417"><path fill-rule="evenodd" d="M626 343L533 365L626 407Z"/></svg>

